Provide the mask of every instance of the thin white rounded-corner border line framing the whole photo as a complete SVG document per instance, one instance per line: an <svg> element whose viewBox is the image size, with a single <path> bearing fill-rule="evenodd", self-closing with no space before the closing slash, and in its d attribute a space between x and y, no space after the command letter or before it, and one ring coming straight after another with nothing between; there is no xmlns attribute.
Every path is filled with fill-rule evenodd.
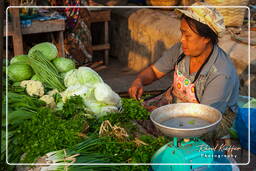
<svg viewBox="0 0 256 171"><path fill-rule="evenodd" d="M8 48L8 10L11 8L190 8L191 6L8 6L6 8L6 48ZM248 79L250 80L250 8L248 6L193 6L193 8L246 8L248 10ZM8 60L8 50L6 51L6 61ZM8 63L6 62L6 163L8 165L31 165L31 166L49 166L49 165L69 165L67 164L47 164L47 163L9 163L8 162ZM248 102L250 100L250 81L248 83ZM248 165L250 163L250 103L248 107L248 162L247 163L73 163L72 165Z"/></svg>

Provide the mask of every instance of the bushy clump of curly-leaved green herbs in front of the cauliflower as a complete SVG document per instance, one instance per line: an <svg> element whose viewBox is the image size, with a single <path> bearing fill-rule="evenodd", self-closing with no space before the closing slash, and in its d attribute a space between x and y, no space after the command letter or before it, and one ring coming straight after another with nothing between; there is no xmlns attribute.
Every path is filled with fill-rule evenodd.
<svg viewBox="0 0 256 171"><path fill-rule="evenodd" d="M30 120L18 127L15 134L17 146L25 157L21 162L34 162L47 152L71 147L81 141L78 133L83 129L79 116L64 120L56 117L49 108L39 108Z"/></svg>

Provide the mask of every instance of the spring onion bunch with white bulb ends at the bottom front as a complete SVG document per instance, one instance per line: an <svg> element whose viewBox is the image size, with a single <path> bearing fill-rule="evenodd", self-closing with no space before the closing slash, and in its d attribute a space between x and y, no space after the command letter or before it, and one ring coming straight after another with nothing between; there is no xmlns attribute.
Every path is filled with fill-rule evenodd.
<svg viewBox="0 0 256 171"><path fill-rule="evenodd" d="M97 152L97 145L102 143L101 141L100 138L87 138L69 149L47 153L44 158L49 166L45 166L41 170L109 170L110 166L96 165L96 163L109 162L107 156ZM84 165L72 165L73 163L83 163Z"/></svg>

